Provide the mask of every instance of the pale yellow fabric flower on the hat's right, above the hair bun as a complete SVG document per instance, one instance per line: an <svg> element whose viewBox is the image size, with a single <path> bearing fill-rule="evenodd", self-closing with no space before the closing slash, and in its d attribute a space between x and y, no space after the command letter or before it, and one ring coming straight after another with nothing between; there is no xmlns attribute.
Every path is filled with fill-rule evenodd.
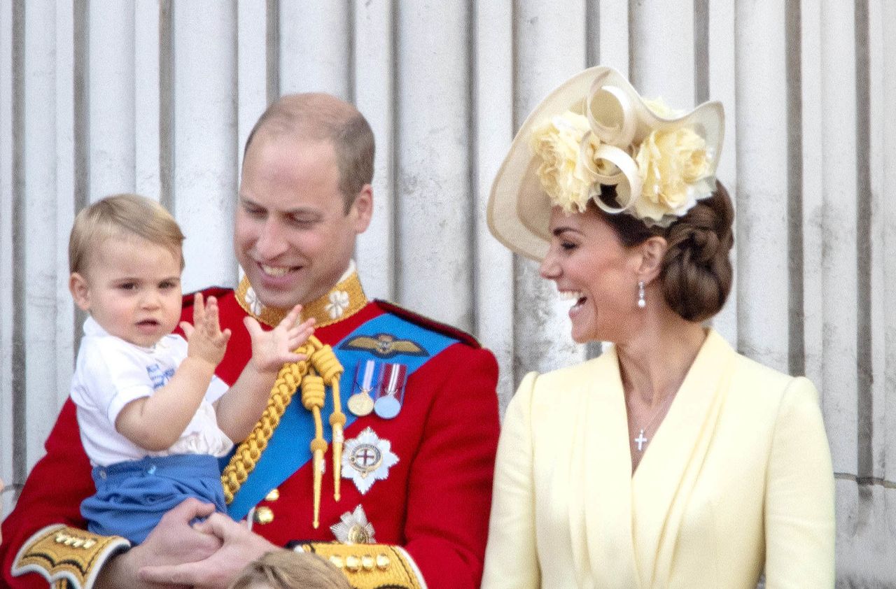
<svg viewBox="0 0 896 589"><path fill-rule="evenodd" d="M683 216L712 192L706 141L689 127L660 129L642 141L635 156L643 180L635 217L659 222Z"/></svg>

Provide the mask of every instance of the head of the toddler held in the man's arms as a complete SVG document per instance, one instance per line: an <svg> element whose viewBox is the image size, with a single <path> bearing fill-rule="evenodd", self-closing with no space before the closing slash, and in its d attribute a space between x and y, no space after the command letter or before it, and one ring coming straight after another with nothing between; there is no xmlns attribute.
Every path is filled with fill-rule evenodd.
<svg viewBox="0 0 896 589"><path fill-rule="evenodd" d="M180 319L183 242L156 201L116 194L94 202L75 217L69 238L74 302L109 334L155 345Z"/></svg>

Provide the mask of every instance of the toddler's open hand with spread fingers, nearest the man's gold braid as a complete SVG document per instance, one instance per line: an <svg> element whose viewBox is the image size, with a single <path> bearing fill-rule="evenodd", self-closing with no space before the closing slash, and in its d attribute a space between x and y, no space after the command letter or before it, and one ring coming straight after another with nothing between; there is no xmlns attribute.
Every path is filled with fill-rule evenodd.
<svg viewBox="0 0 896 589"><path fill-rule="evenodd" d="M308 341L314 333L314 319L297 324L302 305L297 304L292 311L271 331L265 331L258 321L246 317L243 323L252 337L251 363L256 371L276 372L289 362L300 362L306 359L305 354L296 354L294 350Z"/></svg>

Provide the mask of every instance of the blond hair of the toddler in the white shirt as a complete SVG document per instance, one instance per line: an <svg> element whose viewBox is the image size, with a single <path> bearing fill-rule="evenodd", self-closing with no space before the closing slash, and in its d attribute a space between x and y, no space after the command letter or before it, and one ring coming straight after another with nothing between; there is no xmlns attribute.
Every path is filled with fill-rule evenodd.
<svg viewBox="0 0 896 589"><path fill-rule="evenodd" d="M113 194L81 210L74 218L68 239L70 272L83 273L90 262L90 252L110 237L142 237L168 248L180 258L184 234L177 221L158 202L137 194Z"/></svg>

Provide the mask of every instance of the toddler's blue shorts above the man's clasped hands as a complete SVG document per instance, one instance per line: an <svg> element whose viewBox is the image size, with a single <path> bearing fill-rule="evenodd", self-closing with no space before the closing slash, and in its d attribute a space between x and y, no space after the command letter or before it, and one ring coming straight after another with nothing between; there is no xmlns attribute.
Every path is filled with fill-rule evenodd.
<svg viewBox="0 0 896 589"><path fill-rule="evenodd" d="M81 515L94 534L146 539L159 519L189 497L227 513L218 458L205 454L145 457L93 469L97 493L84 499Z"/></svg>

